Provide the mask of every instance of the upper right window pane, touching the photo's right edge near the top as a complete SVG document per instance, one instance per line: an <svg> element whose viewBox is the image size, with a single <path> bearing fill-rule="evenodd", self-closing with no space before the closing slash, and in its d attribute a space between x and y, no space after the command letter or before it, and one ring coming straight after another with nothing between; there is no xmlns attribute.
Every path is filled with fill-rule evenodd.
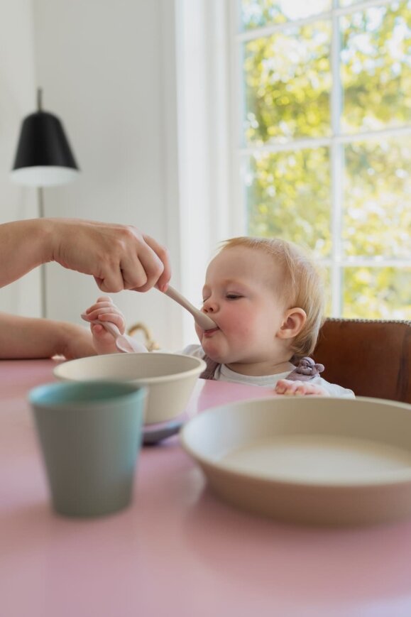
<svg viewBox="0 0 411 617"><path fill-rule="evenodd" d="M411 1L341 17L343 132L411 121Z"/></svg>

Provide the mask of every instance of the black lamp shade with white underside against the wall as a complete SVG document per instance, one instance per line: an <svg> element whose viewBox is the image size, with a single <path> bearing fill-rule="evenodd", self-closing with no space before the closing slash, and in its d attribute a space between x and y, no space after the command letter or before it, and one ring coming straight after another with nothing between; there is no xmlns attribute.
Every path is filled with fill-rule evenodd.
<svg viewBox="0 0 411 617"><path fill-rule="evenodd" d="M79 168L62 123L47 111L36 111L21 125L11 178L31 186L52 186L74 180Z"/></svg>

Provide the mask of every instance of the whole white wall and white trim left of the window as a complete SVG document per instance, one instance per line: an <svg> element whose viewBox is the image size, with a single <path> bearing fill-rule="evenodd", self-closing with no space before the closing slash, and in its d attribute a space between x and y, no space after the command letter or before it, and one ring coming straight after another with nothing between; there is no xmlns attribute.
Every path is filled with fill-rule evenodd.
<svg viewBox="0 0 411 617"><path fill-rule="evenodd" d="M8 173L21 119L42 87L43 107L62 119L82 170L72 185L45 190L46 216L136 224L168 246L172 283L198 304L207 261L231 235L227 6L0 0L1 221L37 215L35 191L11 185ZM54 264L47 271L48 317L80 323L99 295L94 280ZM39 315L39 295L31 273L0 290L0 310ZM156 290L114 301L167 349L197 340L192 318Z"/></svg>

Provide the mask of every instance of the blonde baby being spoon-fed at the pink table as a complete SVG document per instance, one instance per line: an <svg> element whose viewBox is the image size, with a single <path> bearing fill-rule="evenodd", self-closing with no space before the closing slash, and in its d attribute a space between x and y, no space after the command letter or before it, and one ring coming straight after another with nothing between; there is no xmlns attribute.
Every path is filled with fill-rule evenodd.
<svg viewBox="0 0 411 617"><path fill-rule="evenodd" d="M351 390L325 381L323 366L309 359L322 324L324 292L312 261L280 239L247 236L225 241L207 268L202 310L216 328L196 326L199 343L182 353L207 361L203 377L256 386L279 394L354 398ZM87 310L90 321L124 317L109 297ZM98 353L114 353L110 334L92 324Z"/></svg>

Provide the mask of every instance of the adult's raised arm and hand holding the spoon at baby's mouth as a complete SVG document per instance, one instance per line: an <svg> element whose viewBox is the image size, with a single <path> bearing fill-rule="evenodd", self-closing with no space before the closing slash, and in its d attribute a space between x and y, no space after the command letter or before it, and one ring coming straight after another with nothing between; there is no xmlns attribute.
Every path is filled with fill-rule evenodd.
<svg viewBox="0 0 411 617"><path fill-rule="evenodd" d="M94 276L105 292L165 290L168 253L131 225L82 219L28 219L0 225L0 287L41 263Z"/></svg>

